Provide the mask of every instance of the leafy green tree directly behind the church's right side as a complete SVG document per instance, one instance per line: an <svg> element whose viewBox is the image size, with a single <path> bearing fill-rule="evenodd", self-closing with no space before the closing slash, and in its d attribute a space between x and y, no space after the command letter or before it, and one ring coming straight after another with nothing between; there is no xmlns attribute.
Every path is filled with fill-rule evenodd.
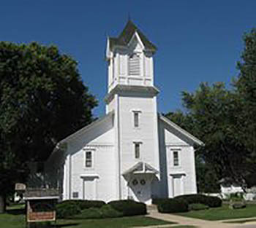
<svg viewBox="0 0 256 228"><path fill-rule="evenodd" d="M220 82L212 86L201 83L195 93L183 93L183 103L187 108L187 119L183 119L187 126L190 125L187 130L204 142L204 146L197 149L197 156L203 161L197 163L197 171L199 168L201 172L198 178L217 180L231 177L234 182L244 184L249 174L250 154L238 134L241 125L241 99L238 95ZM202 172L206 171L208 173L203 175ZM206 181L204 185L209 189Z"/></svg>

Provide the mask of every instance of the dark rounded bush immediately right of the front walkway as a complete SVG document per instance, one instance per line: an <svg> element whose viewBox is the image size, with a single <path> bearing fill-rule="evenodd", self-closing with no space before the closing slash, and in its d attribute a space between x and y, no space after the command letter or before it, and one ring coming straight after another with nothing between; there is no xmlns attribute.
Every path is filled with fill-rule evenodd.
<svg viewBox="0 0 256 228"><path fill-rule="evenodd" d="M157 205L157 209L161 213L187 212L188 208L188 203L182 199L166 199Z"/></svg>

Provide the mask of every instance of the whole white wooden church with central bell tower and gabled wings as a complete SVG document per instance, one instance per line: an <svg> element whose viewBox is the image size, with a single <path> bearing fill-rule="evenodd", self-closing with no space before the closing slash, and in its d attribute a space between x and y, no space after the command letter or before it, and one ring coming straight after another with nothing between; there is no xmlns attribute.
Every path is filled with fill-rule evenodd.
<svg viewBox="0 0 256 228"><path fill-rule="evenodd" d="M157 48L128 21L108 38L106 115L57 144L45 165L62 200L125 200L197 192L195 144L202 142L157 113Z"/></svg>

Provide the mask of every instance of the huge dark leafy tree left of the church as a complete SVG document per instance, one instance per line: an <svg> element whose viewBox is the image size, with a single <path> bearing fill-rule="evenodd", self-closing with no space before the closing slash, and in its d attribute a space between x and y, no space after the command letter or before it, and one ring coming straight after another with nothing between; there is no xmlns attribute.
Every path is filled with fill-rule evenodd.
<svg viewBox="0 0 256 228"><path fill-rule="evenodd" d="M97 105L77 63L57 47L0 42L0 213L28 162L92 121Z"/></svg>

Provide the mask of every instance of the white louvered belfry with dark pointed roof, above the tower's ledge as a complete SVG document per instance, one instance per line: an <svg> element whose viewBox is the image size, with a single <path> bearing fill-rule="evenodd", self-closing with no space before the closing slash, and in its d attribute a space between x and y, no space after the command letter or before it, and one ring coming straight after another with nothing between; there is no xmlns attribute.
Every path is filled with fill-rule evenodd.
<svg viewBox="0 0 256 228"><path fill-rule="evenodd" d="M108 93L118 84L154 86L153 55L156 50L131 20L117 38L109 37L106 51Z"/></svg>

